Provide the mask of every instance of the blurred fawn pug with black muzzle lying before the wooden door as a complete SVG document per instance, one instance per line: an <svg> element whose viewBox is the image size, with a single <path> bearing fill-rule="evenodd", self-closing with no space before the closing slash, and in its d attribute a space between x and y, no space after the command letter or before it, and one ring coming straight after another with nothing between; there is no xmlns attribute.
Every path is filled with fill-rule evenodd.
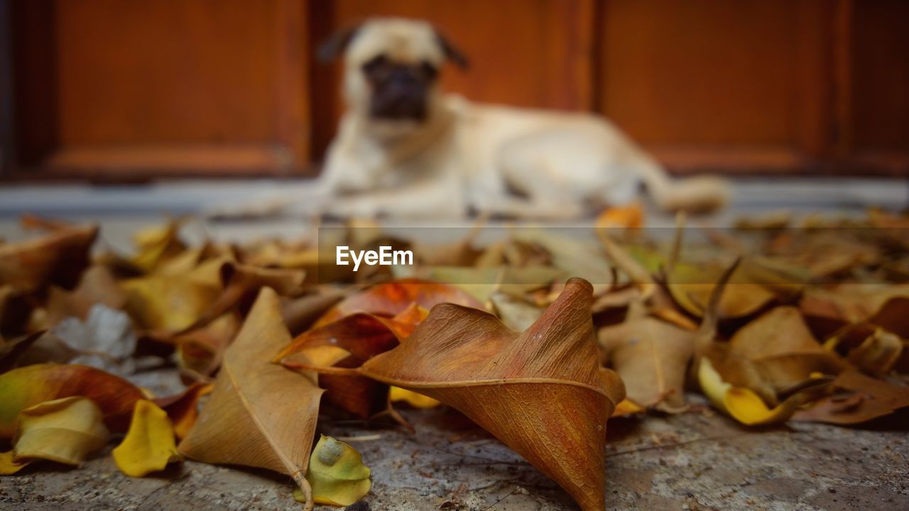
<svg viewBox="0 0 909 511"><path fill-rule="evenodd" d="M724 205L724 181L671 179L600 115L484 105L444 93L461 51L425 21L375 18L333 36L346 112L319 179L336 216L566 219L634 200L666 210Z"/></svg>

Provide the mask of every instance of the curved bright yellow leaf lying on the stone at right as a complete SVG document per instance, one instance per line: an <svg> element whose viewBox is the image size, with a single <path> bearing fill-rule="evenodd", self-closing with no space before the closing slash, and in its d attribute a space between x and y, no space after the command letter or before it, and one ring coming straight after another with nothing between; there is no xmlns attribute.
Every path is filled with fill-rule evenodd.
<svg viewBox="0 0 909 511"><path fill-rule="evenodd" d="M710 402L745 426L784 422L802 404L796 395L789 397L779 406L769 408L754 391L724 382L707 357L701 359L697 377Z"/></svg>

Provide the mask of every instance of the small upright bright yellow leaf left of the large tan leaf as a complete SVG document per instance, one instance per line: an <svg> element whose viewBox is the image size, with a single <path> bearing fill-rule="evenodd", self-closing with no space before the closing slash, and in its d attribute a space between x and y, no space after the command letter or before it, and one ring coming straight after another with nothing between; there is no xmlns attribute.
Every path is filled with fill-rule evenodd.
<svg viewBox="0 0 909 511"><path fill-rule="evenodd" d="M114 448L114 461L126 476L142 477L182 461L176 450L174 426L164 410L151 401L136 401L133 422L123 443Z"/></svg>

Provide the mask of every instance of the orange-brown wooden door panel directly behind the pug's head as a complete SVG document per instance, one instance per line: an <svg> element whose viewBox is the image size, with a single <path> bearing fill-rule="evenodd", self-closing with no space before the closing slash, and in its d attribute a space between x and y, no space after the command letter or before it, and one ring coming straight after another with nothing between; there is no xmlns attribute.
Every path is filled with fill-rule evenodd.
<svg viewBox="0 0 909 511"><path fill-rule="evenodd" d="M312 9L314 44L371 16L429 20L471 60L467 71L445 69L443 85L474 101L573 110L593 105L594 0L335 0ZM312 75L315 146L324 149L343 109L339 66L316 64Z"/></svg>

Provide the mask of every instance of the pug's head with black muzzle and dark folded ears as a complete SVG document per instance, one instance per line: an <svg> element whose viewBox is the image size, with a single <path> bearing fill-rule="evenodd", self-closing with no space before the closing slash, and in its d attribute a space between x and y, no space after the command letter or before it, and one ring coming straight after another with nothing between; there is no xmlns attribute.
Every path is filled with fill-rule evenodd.
<svg viewBox="0 0 909 511"><path fill-rule="evenodd" d="M434 111L438 75L447 60L466 65L432 25L379 18L335 35L320 56L345 49L345 99L358 115L376 121L421 123Z"/></svg>

